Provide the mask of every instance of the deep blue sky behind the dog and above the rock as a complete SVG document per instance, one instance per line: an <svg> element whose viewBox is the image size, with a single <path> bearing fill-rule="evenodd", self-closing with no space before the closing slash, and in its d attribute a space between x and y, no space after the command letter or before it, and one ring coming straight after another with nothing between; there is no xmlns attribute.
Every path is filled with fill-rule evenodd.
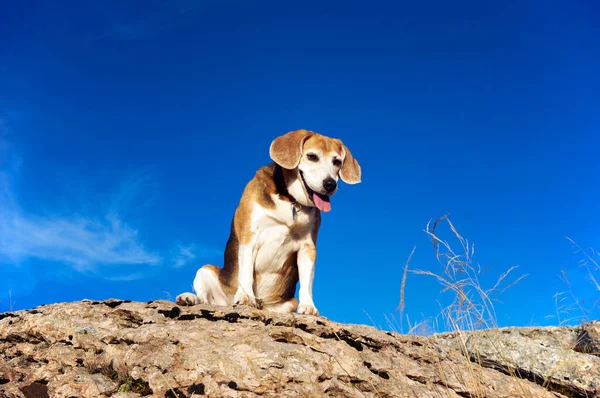
<svg viewBox="0 0 600 398"><path fill-rule="evenodd" d="M591 1L11 2L0 311L189 291L271 140L307 128L363 170L323 217L322 315L388 328L413 246L411 268L440 271L424 229L448 214L486 286L527 274L498 322L556 323L563 267L598 297L565 237L600 249L599 18ZM439 291L408 275L411 322Z"/></svg>

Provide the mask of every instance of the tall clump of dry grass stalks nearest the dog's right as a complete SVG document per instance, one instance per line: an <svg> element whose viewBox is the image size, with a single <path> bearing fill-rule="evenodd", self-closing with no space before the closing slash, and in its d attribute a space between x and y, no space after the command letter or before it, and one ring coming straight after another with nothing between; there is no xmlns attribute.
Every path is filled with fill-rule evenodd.
<svg viewBox="0 0 600 398"><path fill-rule="evenodd" d="M456 241L454 245L444 239L439 232L442 224L449 228L450 237ZM395 330L404 330L403 312L405 309L406 275L410 272L433 278L442 286L440 293L447 304L443 305L438 301L440 314L433 318L423 319L416 324L412 324L407 316L408 333L425 335L431 335L435 332L456 333L460 350L465 358L469 359L466 363L467 377L460 376L461 384L472 391L476 397L483 397L485 396L485 389L480 384L482 379L480 373L483 367L478 366L481 365L481 357L478 352L473 352L472 349L468 348L465 332L481 330L485 333L488 328L498 327L495 309L495 304L499 301L498 296L521 281L526 275L517 276L509 281L517 268L516 266L509 267L490 286L484 286L482 275L487 274L490 267L482 268L479 263L475 262L475 245L458 232L447 216L443 216L434 222L430 221L426 226L425 233L431 240L435 258L441 269L438 272L422 269L410 270L409 262L415 251L415 248L413 248L404 266L400 288L400 304L397 311L400 312L401 320L398 322L394 318L392 320L388 319L388 325ZM455 246L459 249L455 249ZM495 347L500 356L504 357L501 350L497 346ZM509 360L510 358L507 358L507 361ZM456 379L459 373L453 369L440 369L439 377L441 379ZM520 375L514 371L512 376L517 380L520 379ZM519 381L519 385L522 387L522 396L528 397L531 395L530 390L525 386L525 381Z"/></svg>

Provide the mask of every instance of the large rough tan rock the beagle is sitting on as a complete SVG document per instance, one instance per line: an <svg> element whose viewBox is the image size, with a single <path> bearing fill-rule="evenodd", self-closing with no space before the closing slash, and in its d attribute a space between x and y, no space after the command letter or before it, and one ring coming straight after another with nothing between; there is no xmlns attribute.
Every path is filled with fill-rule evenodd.
<svg viewBox="0 0 600 398"><path fill-rule="evenodd" d="M536 334L527 333L533 347ZM543 362L565 365L562 384L514 377L491 356L481 366L452 335L406 336L245 307L61 303L0 314L0 397L594 396L600 358L559 354L568 329L539 333L558 350Z"/></svg>

